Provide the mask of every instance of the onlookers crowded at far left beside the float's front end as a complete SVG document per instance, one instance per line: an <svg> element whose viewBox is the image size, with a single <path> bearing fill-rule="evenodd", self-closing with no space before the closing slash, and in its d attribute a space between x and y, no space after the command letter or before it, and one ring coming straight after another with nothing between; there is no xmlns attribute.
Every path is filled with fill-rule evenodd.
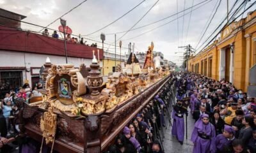
<svg viewBox="0 0 256 153"><path fill-rule="evenodd" d="M19 120L15 119L15 115L19 113L17 109L18 101L29 102L29 99L35 96L42 96L38 91L42 89L42 84L38 83L31 89L28 83L24 84L19 89L5 94L5 97L0 102L0 148L2 152L9 152L11 149L7 144L14 140L14 137L19 133Z"/></svg>

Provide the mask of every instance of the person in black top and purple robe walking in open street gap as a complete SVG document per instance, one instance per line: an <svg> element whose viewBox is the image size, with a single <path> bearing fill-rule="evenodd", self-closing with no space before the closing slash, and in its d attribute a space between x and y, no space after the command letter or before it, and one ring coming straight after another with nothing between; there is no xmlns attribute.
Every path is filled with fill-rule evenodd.
<svg viewBox="0 0 256 153"><path fill-rule="evenodd" d="M172 135L177 138L181 145L183 145L184 140L184 115L188 115L188 111L186 107L182 106L182 101L177 101L172 112Z"/></svg>

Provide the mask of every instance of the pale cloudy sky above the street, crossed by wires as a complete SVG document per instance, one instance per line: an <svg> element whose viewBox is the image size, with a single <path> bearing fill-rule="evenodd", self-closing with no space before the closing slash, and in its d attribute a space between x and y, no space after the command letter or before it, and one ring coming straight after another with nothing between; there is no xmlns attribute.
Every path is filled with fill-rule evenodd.
<svg viewBox="0 0 256 153"><path fill-rule="evenodd" d="M26 22L46 26L82 1L84 0L0 0L0 8L25 15L26 18L24 18L24 21ZM116 20L116 18L121 17L141 1L143 0L88 0L63 18L67 20L67 25L71 27L74 34L87 35L108 25ZM183 12L179 13L179 20L175 20L177 15L166 18L177 13L177 8L178 11L182 11L184 8L191 7L192 4L195 5L203 1L205 2L193 7L193 10L196 10L192 11L190 22L189 17L191 9L184 12L184 18L182 17ZM85 38L100 41L100 33L105 33L106 43L114 45L115 35L112 33L118 33L116 34L116 40L119 40L119 38L125 34L121 39L123 47L128 47L129 42L135 43L135 52L145 52L150 42L153 41L155 46L154 50L163 52L165 59L181 64L182 53L175 54L175 52L184 52L184 50L178 48L178 46L190 44L194 48L196 48L196 46L200 47L201 43L204 42L227 15L227 0L222 0L205 36L202 38L201 43L197 45L202 31L206 27L207 21L209 22L209 18L213 14L212 11L216 10L220 1L221 0L159 0L154 8L152 8L134 28L156 22L162 18L166 18L165 20L129 31L127 34L118 33L131 29L132 25L138 22L154 3L157 2L157 0L146 0L114 24L90 36L85 36ZM230 9L235 0L228 1ZM239 3L237 3L236 7L239 6L243 0L238 1ZM255 2L255 0L248 2L246 7L250 6L253 2ZM255 6L249 11L252 10L255 10ZM246 13L244 13L243 17L246 17ZM170 22L171 20L173 21ZM170 23L165 24L167 22ZM49 28L58 29L59 25L60 20L54 22ZM22 28L32 31L40 31L40 29L42 29L28 24L22 24ZM147 31L149 32L146 33ZM52 31L50 31L50 33L52 33ZM88 41L88 43L93 43L93 41ZM98 43L98 46L99 45ZM115 51L114 46L105 45L105 47L108 48L109 52ZM127 49L123 48L122 52L127 52Z"/></svg>

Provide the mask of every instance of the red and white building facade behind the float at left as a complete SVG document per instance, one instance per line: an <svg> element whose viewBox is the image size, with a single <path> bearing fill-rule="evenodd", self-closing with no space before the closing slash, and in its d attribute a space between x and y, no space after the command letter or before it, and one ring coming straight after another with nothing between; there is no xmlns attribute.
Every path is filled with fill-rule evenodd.
<svg viewBox="0 0 256 153"><path fill-rule="evenodd" d="M3 98L6 92L21 87L25 82L31 87L38 83L39 71L47 57L52 64L65 64L66 56L63 40L23 31L19 21L24 16L2 9L0 13L4 14L0 18L0 98ZM102 49L67 42L68 64L77 68L84 64L90 68L93 50L97 59L99 57L102 61Z"/></svg>

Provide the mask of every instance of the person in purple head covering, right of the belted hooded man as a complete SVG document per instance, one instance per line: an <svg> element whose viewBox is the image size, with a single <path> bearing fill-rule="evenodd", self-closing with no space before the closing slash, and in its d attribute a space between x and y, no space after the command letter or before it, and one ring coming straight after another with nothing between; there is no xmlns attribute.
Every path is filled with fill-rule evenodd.
<svg viewBox="0 0 256 153"><path fill-rule="evenodd" d="M223 134L216 136L216 150L218 152L223 152L225 147L231 145L233 140L235 139L236 131L231 126L225 125Z"/></svg>

